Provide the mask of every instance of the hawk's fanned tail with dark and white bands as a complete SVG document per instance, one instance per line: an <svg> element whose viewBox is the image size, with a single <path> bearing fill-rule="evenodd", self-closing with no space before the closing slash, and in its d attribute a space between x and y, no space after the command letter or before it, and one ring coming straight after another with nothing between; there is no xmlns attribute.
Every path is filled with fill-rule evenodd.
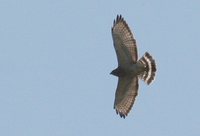
<svg viewBox="0 0 200 136"><path fill-rule="evenodd" d="M140 78L149 85L155 78L155 60L148 52L146 52L144 56L139 60L139 62L142 63L145 67L145 71L140 75Z"/></svg>

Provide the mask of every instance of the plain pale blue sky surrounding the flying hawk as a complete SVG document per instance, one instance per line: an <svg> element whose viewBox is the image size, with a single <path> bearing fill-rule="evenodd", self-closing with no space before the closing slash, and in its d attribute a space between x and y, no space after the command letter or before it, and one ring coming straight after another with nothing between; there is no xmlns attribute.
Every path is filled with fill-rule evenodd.
<svg viewBox="0 0 200 136"><path fill-rule="evenodd" d="M200 135L200 1L0 0L0 135ZM111 26L157 64L125 119Z"/></svg>

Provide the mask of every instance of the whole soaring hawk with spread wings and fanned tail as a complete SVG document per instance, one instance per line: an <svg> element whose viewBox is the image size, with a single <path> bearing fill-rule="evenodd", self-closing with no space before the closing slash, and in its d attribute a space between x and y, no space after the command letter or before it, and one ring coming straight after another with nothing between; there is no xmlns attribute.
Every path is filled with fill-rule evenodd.
<svg viewBox="0 0 200 136"><path fill-rule="evenodd" d="M148 85L152 83L156 63L148 52L138 60L136 40L121 15L117 15L111 31L118 60L118 67L110 73L118 77L114 109L125 118L138 94L138 80L142 79Z"/></svg>

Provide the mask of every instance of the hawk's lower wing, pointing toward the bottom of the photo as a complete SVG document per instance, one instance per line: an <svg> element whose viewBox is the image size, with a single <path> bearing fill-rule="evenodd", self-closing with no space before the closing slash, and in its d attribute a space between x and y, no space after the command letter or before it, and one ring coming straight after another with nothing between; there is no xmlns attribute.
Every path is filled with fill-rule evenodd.
<svg viewBox="0 0 200 136"><path fill-rule="evenodd" d="M119 77L115 93L114 109L125 118L131 110L138 93L138 77Z"/></svg>

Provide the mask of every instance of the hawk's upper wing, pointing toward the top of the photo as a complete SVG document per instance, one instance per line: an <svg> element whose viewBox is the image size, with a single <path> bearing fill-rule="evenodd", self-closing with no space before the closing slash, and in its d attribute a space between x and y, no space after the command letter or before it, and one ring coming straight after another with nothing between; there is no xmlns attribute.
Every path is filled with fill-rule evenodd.
<svg viewBox="0 0 200 136"><path fill-rule="evenodd" d="M117 54L118 65L136 63L138 59L136 41L124 18L117 15L112 27L112 37Z"/></svg>

